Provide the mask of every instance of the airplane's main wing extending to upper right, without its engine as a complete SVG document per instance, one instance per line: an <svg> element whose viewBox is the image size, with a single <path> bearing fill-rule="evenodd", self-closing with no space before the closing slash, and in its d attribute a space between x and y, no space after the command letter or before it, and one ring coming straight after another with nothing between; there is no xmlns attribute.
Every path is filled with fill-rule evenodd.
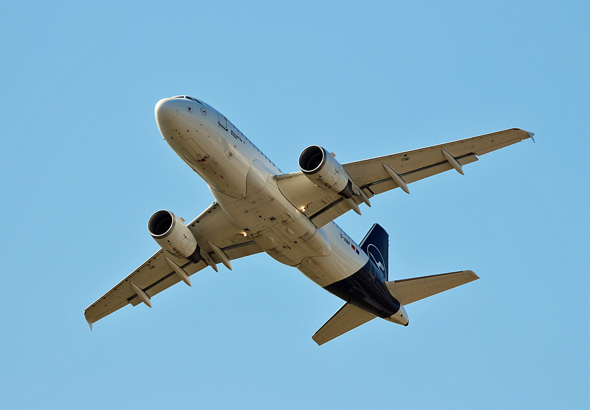
<svg viewBox="0 0 590 410"><path fill-rule="evenodd" d="M462 167L477 161L478 156L519 143L533 135L519 128L510 128L419 150L342 164L342 167L367 198L397 187L409 193L409 183L453 169L463 173ZM305 214L317 227L324 226L352 209L343 197L316 186L301 171L277 176L277 184L297 209L305 209ZM358 196L353 197L353 200L356 204L363 202Z"/></svg>

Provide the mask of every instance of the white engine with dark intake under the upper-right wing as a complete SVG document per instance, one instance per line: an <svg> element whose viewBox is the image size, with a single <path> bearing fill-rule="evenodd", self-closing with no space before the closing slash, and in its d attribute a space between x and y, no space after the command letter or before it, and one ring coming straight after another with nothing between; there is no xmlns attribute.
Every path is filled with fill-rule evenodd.
<svg viewBox="0 0 590 410"><path fill-rule="evenodd" d="M299 156L299 168L310 181L345 198L352 197L352 180L336 158L320 146L310 146Z"/></svg>

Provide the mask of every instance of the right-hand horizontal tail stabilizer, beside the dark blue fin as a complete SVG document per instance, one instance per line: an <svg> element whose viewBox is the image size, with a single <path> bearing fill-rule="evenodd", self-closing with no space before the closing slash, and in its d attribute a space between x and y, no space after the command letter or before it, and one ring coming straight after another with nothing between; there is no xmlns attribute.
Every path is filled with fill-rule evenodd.
<svg viewBox="0 0 590 410"><path fill-rule="evenodd" d="M393 280L385 282L385 285L389 293L399 300L399 303L408 305L408 303L436 295L476 279L479 279L479 276L473 273L473 270L462 270L461 272L441 273L441 275Z"/></svg>

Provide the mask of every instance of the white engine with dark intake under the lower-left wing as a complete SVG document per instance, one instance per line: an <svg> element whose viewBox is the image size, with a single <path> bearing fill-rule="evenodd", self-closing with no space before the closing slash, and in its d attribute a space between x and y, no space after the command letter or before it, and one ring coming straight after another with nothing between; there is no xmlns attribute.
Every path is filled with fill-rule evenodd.
<svg viewBox="0 0 590 410"><path fill-rule="evenodd" d="M153 214L148 221L148 231L162 249L174 256L192 262L201 260L201 247L194 234L171 211L163 209Z"/></svg>

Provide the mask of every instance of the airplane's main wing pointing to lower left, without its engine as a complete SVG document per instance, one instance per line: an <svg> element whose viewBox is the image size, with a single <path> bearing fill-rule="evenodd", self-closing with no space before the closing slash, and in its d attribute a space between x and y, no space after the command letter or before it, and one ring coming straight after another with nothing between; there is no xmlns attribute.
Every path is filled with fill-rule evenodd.
<svg viewBox="0 0 590 410"><path fill-rule="evenodd" d="M241 229L235 226L217 203L209 206L187 226L195 235L199 246L209 254L215 263L222 263L222 261L208 242L218 246L230 260L263 252L253 240L243 236ZM207 264L202 260L199 263L188 262L186 259L180 259L160 249L142 266L84 310L84 317L86 317L90 329L92 329L92 323L115 310L123 308L129 303L136 306L145 301L142 299L142 295L133 289L133 285L137 286L140 290L139 293L144 293L149 301L149 298L156 293L180 282L181 276L176 274L166 258L180 266L189 276L207 267Z"/></svg>

